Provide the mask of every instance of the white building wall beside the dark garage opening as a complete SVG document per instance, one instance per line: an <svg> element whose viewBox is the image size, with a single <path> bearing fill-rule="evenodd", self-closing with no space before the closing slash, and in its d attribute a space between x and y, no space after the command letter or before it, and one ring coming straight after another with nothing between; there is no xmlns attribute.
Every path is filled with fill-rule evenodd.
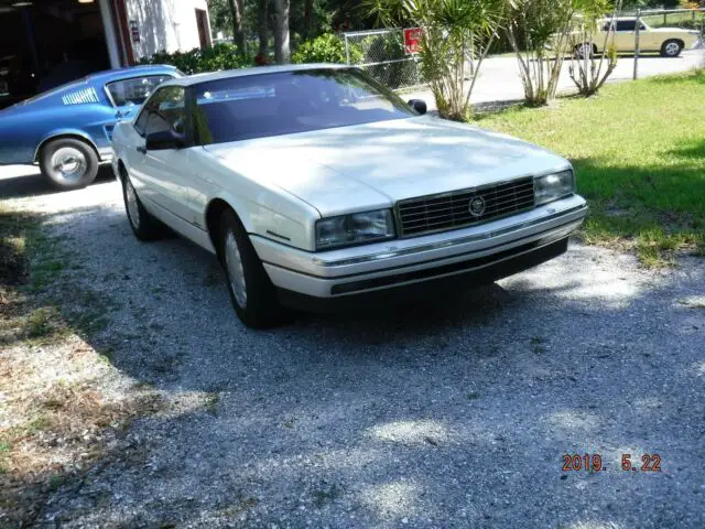
<svg viewBox="0 0 705 529"><path fill-rule="evenodd" d="M124 3L135 61L161 51L173 53L200 47L196 9L207 13L206 0L126 0ZM139 42L134 42L132 35L132 21L139 29Z"/></svg>

